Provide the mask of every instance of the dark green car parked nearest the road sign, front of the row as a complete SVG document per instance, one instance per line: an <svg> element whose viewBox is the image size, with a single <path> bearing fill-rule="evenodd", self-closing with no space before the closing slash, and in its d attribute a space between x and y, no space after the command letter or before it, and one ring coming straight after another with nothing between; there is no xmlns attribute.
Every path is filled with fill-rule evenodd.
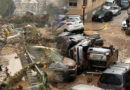
<svg viewBox="0 0 130 90"><path fill-rule="evenodd" d="M111 21L112 18L113 18L113 13L111 11L101 9L93 15L92 21L107 22L107 21Z"/></svg>

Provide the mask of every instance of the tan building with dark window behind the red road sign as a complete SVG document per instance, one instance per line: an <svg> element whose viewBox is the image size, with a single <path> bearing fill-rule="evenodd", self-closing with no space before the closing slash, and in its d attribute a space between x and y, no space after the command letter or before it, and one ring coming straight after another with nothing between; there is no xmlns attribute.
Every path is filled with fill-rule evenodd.
<svg viewBox="0 0 130 90"><path fill-rule="evenodd" d="M69 0L69 12L68 15L83 15L83 5L84 0ZM100 6L105 2L106 0L86 0L86 9L85 9L85 16L86 19L88 17L91 17L92 14L100 8Z"/></svg>

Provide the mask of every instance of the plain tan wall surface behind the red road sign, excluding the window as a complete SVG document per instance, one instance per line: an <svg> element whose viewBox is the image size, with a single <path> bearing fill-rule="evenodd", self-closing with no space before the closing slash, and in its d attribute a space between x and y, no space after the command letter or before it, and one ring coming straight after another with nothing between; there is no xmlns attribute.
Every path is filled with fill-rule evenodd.
<svg viewBox="0 0 130 90"><path fill-rule="evenodd" d="M92 0L87 0L87 6L85 9L87 20L91 20L92 14L100 9L100 6L105 2L106 0L95 0L92 2ZM68 15L83 15L83 0L77 0L77 7L69 7Z"/></svg>

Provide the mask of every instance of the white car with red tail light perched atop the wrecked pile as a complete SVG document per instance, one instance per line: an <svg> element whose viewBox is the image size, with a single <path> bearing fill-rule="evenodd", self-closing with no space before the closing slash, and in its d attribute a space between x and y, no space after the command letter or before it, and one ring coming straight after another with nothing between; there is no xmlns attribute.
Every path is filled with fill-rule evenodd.
<svg viewBox="0 0 130 90"><path fill-rule="evenodd" d="M68 32L83 32L84 25L79 15L68 15L67 19L62 23L62 27L58 31L68 31Z"/></svg>

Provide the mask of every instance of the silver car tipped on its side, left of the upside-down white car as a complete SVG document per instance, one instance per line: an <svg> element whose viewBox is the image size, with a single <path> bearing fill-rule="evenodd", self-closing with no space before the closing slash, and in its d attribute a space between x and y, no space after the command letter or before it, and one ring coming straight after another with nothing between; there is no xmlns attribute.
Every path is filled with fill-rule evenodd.
<svg viewBox="0 0 130 90"><path fill-rule="evenodd" d="M78 71L87 69L87 50L92 46L90 39L83 39L78 44L69 49L69 57L76 61Z"/></svg>

